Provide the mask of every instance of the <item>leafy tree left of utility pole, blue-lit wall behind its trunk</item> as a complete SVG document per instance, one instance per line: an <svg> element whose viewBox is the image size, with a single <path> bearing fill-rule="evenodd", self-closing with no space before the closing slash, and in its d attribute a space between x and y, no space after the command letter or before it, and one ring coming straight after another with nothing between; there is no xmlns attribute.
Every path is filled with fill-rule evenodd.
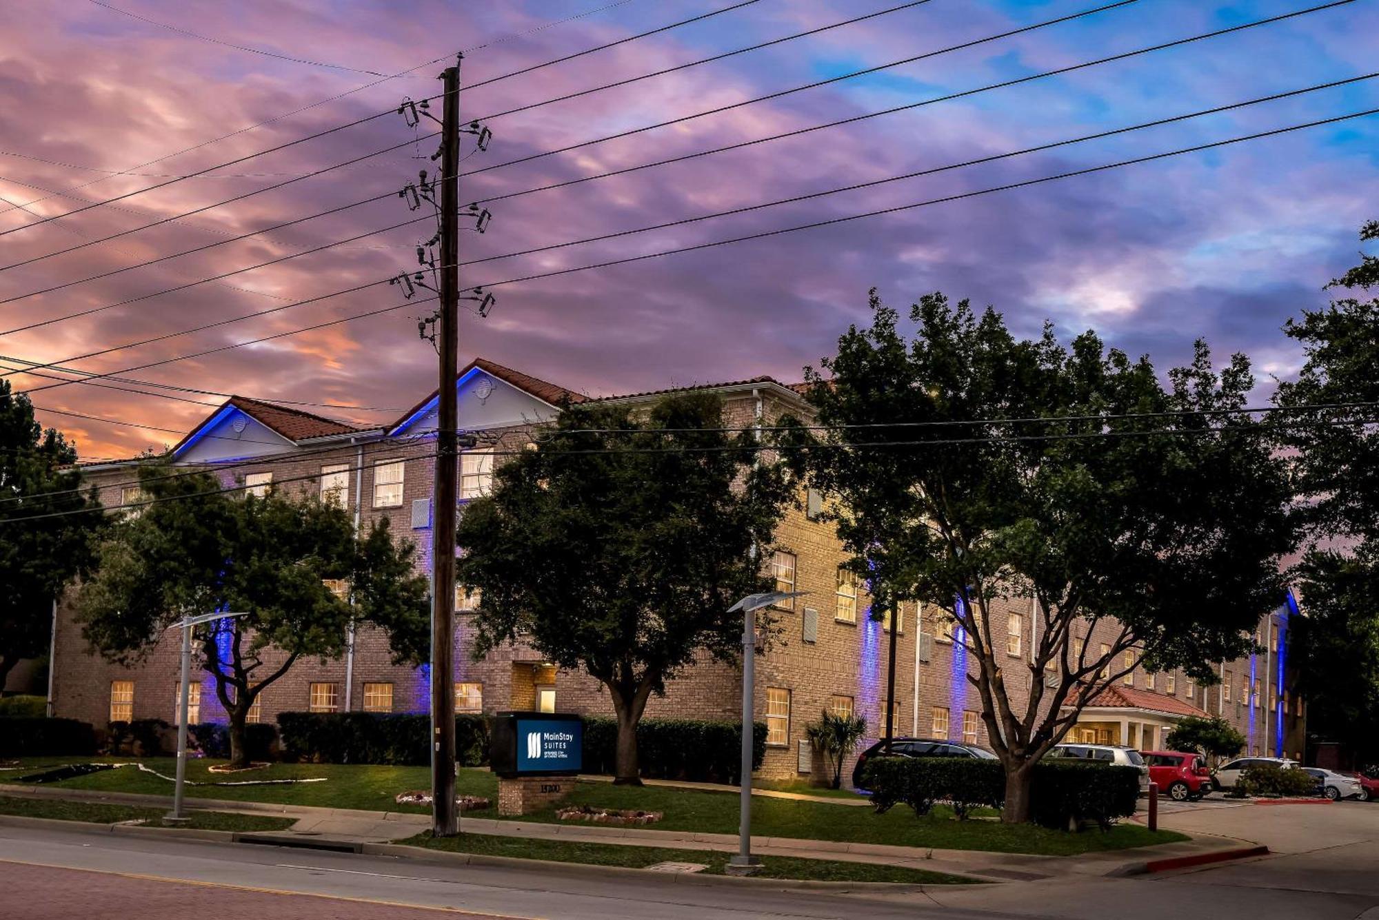
<svg viewBox="0 0 1379 920"><path fill-rule="evenodd" d="M244 723L265 687L299 658L338 658L350 631L389 634L396 662L419 664L430 636L429 589L414 547L387 521L356 532L348 511L279 490L217 493L210 474L139 470L149 504L113 525L77 595L83 635L112 661L148 656L186 616L247 616L203 627L201 667L229 715L230 763L245 766ZM327 580L348 588L336 592Z"/></svg>

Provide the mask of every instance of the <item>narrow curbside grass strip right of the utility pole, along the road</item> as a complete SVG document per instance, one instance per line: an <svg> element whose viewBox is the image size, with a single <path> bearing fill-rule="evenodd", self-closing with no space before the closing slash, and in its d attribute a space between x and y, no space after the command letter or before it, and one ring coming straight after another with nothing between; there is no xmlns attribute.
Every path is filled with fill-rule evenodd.
<svg viewBox="0 0 1379 920"><path fill-rule="evenodd" d="M672 850L667 847L629 847L612 843L571 843L568 840L528 840L494 835L463 833L458 837L436 839L422 833L399 840L414 847L445 850L450 853L481 853L521 859L549 859L553 862L583 862L598 866L630 866L644 869L658 862L707 864L706 875L724 875L728 853L713 850ZM797 859L793 857L763 857L761 879L809 879L815 881L898 881L906 884L963 884L975 881L943 872L906 869L870 862L838 862L832 859Z"/></svg>

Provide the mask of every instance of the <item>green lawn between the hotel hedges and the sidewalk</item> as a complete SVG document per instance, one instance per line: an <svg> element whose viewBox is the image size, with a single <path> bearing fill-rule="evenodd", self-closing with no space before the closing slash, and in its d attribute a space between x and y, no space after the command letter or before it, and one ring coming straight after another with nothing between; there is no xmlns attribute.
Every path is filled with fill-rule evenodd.
<svg viewBox="0 0 1379 920"><path fill-rule="evenodd" d="M57 757L32 757L22 762L37 770L59 763ZM68 759L70 760L70 759ZM172 775L171 757L148 759L145 763ZM207 773L211 762L193 760L188 764L189 780L215 780ZM0 782L12 782L25 771L0 773ZM273 764L266 770L239 774L245 778L327 777L327 782L308 782L280 786L192 786L189 796L284 804L325 806L335 808L368 808L376 811L416 811L425 807L399 806L393 796L408 789L430 785L427 767L383 767L354 764ZM134 767L106 770L57 784L69 789L99 789L119 792L150 792L171 795L172 784ZM496 800L496 778L487 770L459 771L461 793L480 795ZM662 811L665 818L658 830L696 830L710 833L738 832L738 795L735 792L705 792L672 786L615 786L610 782L582 782L570 795L571 804L608 808L641 808ZM496 817L495 810L479 811L479 817ZM557 821L554 808L528 815L527 821ZM849 808L823 802L793 802L789 799L756 797L752 803L752 832L763 836L841 840L849 843L887 843L909 847L942 850L987 850L994 853L1034 853L1047 855L1076 855L1096 850L1121 850L1156 843L1185 840L1171 830L1150 832L1135 824L1120 824L1111 830L1065 833L1034 825L1003 825L994 821L954 821L952 814L936 807L934 814L916 818L905 806L878 815L870 808Z"/></svg>

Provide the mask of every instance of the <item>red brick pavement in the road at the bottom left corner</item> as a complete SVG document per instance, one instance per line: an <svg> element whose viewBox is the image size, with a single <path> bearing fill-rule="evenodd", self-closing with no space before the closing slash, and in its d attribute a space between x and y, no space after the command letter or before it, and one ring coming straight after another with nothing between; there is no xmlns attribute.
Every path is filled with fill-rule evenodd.
<svg viewBox="0 0 1379 920"><path fill-rule="evenodd" d="M407 908L312 894L279 894L193 881L163 881L83 869L0 862L0 920L436 920L483 917L444 908Z"/></svg>

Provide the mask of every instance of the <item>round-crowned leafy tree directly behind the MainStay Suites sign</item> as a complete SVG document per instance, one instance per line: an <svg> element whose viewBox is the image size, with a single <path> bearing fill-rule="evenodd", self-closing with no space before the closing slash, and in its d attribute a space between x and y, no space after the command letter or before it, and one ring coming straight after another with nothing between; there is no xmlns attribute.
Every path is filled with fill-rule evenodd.
<svg viewBox="0 0 1379 920"><path fill-rule="evenodd" d="M750 432L723 431L710 394L650 412L567 406L459 522L456 578L481 598L476 658L520 639L607 687L616 782L641 782L651 694L702 657L736 660L728 607L769 589L753 547L771 541L789 492L756 453Z"/></svg>

